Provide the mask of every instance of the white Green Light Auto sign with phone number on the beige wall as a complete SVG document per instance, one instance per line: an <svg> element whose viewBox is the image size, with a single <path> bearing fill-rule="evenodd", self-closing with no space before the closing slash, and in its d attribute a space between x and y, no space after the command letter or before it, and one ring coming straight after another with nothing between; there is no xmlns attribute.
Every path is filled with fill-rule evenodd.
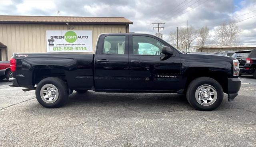
<svg viewBox="0 0 256 147"><path fill-rule="evenodd" d="M47 52L92 52L92 31L46 31Z"/></svg>

